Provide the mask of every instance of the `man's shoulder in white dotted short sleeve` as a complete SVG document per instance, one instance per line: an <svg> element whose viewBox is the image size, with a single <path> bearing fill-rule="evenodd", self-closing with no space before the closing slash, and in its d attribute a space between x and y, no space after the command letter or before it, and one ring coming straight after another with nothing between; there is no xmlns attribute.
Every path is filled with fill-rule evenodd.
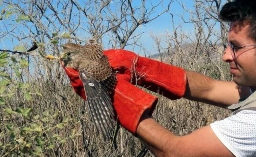
<svg viewBox="0 0 256 157"><path fill-rule="evenodd" d="M235 156L255 156L256 111L243 110L210 124L219 140Z"/></svg>

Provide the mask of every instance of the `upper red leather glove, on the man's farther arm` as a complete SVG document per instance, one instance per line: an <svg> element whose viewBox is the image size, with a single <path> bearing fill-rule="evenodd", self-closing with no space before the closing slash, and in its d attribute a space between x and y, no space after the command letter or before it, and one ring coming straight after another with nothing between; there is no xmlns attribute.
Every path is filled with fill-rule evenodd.
<svg viewBox="0 0 256 157"><path fill-rule="evenodd" d="M131 51L107 50L111 67L123 80L137 83L169 99L181 98L186 89L185 71L176 66L140 57Z"/></svg>

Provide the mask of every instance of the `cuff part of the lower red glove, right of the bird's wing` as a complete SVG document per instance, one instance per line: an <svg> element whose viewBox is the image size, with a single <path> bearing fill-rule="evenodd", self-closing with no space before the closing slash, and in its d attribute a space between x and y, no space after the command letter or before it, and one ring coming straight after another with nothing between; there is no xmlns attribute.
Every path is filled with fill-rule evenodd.
<svg viewBox="0 0 256 157"><path fill-rule="evenodd" d="M114 110L120 124L135 134L141 115L144 112L152 114L158 99L119 77L117 79L113 101Z"/></svg>

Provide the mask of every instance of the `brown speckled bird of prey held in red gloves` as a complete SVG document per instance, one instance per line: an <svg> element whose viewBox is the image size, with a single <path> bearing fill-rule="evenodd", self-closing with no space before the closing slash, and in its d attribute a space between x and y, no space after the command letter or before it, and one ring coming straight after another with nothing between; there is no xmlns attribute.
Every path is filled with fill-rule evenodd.
<svg viewBox="0 0 256 157"><path fill-rule="evenodd" d="M90 40L85 46L69 43L63 47L60 61L64 68L79 71L96 129L103 133L104 139L110 139L110 131L115 127L110 94L114 90L117 78L107 56L95 40Z"/></svg>

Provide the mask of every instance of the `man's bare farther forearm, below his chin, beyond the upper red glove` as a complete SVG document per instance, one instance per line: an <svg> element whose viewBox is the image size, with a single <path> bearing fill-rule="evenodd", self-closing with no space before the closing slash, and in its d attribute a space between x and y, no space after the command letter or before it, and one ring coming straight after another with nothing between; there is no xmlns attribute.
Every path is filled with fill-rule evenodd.
<svg viewBox="0 0 256 157"><path fill-rule="evenodd" d="M238 86L233 81L211 79L201 73L186 71L187 85L184 98L226 107L248 96L250 88Z"/></svg>

